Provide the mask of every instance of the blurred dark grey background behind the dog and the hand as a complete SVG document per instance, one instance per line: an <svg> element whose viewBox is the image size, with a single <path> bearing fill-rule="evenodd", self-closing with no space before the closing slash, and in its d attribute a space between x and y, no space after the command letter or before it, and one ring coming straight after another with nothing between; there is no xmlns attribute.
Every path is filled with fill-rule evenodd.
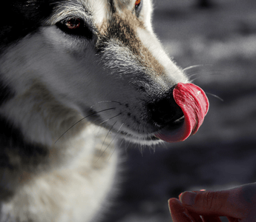
<svg viewBox="0 0 256 222"><path fill-rule="evenodd" d="M171 221L167 201L180 192L256 182L256 1L155 0L154 8L157 36L210 110L182 143L124 144L123 182L105 222Z"/></svg>

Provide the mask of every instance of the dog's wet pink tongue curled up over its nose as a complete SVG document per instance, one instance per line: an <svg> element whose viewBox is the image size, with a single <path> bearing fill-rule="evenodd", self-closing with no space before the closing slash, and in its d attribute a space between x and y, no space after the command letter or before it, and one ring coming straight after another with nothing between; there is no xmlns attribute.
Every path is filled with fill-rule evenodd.
<svg viewBox="0 0 256 222"><path fill-rule="evenodd" d="M203 124L209 110L209 101L206 93L194 84L177 84L173 95L177 105L183 110L184 122L177 127L165 127L155 136L166 142L185 141Z"/></svg>

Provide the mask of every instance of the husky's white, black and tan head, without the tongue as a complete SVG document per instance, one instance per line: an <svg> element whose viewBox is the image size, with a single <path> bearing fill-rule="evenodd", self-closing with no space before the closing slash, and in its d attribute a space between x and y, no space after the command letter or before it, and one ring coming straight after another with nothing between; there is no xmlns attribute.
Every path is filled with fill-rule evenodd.
<svg viewBox="0 0 256 222"><path fill-rule="evenodd" d="M19 95L39 82L85 120L141 143L183 118L173 90L189 81L152 30L151 0L7 4L18 20L2 27L12 38L1 36L1 73Z"/></svg>

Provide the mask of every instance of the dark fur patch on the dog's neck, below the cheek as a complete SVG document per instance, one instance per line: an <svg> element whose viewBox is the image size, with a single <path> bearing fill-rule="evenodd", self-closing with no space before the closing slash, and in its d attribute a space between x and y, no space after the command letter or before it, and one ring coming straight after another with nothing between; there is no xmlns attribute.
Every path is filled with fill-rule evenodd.
<svg viewBox="0 0 256 222"><path fill-rule="evenodd" d="M45 147L25 141L22 132L0 115L0 201L25 182L24 173L35 172L40 164L47 166L48 155Z"/></svg>

